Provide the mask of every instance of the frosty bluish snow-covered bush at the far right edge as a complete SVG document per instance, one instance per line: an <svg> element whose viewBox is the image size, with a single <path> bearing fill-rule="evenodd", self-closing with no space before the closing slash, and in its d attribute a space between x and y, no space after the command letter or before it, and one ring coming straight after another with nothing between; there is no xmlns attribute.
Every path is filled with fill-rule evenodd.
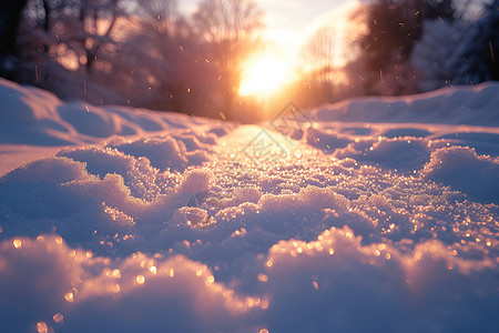
<svg viewBox="0 0 499 333"><path fill-rule="evenodd" d="M499 80L499 1L483 6L476 21L425 22L413 64L420 73L419 89L477 84Z"/></svg>

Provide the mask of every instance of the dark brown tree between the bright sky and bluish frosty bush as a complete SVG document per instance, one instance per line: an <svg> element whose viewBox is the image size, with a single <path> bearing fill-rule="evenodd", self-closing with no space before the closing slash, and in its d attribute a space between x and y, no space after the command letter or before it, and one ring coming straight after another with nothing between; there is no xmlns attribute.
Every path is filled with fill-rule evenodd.
<svg viewBox="0 0 499 333"><path fill-rule="evenodd" d="M410 67L414 47L427 21L452 22L451 0L378 0L367 11L367 33L360 38L361 63L368 75L366 93L417 92L416 71Z"/></svg>

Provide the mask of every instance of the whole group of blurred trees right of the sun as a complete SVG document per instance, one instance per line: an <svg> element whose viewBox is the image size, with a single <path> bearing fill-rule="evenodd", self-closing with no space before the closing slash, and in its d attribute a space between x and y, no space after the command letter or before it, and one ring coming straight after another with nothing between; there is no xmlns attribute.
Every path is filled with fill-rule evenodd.
<svg viewBox="0 0 499 333"><path fill-rule="evenodd" d="M499 80L499 0L375 0L361 11L365 29L349 47L358 57L340 68L329 71L323 56L312 56L320 53L317 46L324 44L319 36L330 29L327 23L305 46L310 54L305 64L313 69L295 85L302 105L326 101L317 81L327 72L340 78L327 83L334 92L329 101ZM353 12L349 19L358 16ZM303 93L304 84L314 88Z"/></svg>

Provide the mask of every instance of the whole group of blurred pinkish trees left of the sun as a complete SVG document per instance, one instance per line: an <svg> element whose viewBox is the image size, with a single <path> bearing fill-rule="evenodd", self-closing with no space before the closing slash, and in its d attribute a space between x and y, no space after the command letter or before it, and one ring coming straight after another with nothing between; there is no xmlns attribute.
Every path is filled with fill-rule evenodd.
<svg viewBox="0 0 499 333"><path fill-rule="evenodd" d="M228 117L262 12L249 0L27 0L0 7L0 74L62 99Z"/></svg>

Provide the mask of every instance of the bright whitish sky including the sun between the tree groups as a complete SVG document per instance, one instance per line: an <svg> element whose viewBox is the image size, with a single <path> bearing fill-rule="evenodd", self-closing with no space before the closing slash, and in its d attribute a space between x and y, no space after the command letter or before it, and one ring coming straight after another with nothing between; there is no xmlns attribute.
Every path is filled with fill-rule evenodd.
<svg viewBox="0 0 499 333"><path fill-rule="evenodd" d="M180 0L184 14L192 14L201 0ZM325 24L336 29L336 43L344 43L347 31L345 12L358 6L359 0L255 0L264 12L262 33L266 48L249 57L243 70L242 94L262 92L262 87L279 87L293 80L301 71L303 49L313 33ZM338 40L340 39L340 40ZM337 48L346 49L346 48ZM335 59L343 59L337 54ZM344 59L343 59L344 60ZM339 61L340 63L343 61ZM245 74L246 73L246 74ZM255 73L259 74L257 78ZM265 88L264 90L272 90ZM246 90L246 93L244 92ZM268 91L267 91L268 92Z"/></svg>

